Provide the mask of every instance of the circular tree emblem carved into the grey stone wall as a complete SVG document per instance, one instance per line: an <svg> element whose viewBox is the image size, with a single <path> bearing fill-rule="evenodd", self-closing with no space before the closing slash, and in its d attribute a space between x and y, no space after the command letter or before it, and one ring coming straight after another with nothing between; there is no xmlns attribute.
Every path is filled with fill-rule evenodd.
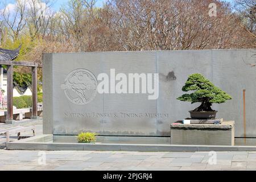
<svg viewBox="0 0 256 182"><path fill-rule="evenodd" d="M97 79L87 69L75 69L68 74L61 89L73 104L85 105L94 99L97 93Z"/></svg>

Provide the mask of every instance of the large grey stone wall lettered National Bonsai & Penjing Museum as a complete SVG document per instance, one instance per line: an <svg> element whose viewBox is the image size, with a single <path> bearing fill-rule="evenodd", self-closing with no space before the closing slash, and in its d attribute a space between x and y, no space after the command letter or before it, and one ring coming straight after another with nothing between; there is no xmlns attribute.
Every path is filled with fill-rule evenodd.
<svg viewBox="0 0 256 182"><path fill-rule="evenodd" d="M233 97L213 109L218 110L219 118L236 121L236 137L244 137L246 90L246 137L256 137L256 68L249 65L255 63L255 52L230 49L44 54L44 134L93 131L110 136L170 136L170 124L189 117L188 110L199 105L176 100L183 94L184 82L188 75L202 73ZM110 75L110 69L126 75L159 73L158 100L148 100L148 94L94 96L90 90L86 91L84 104L79 105L76 93L65 88L65 81L73 74L84 72L94 80L100 73Z"/></svg>

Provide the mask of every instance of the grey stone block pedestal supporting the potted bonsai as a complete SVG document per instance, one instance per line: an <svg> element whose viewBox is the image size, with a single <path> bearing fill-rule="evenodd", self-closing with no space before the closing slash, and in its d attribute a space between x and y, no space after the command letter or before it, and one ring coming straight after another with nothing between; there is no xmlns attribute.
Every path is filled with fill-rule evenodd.
<svg viewBox="0 0 256 182"><path fill-rule="evenodd" d="M175 122L171 125L171 144L234 146L234 121L220 125Z"/></svg>

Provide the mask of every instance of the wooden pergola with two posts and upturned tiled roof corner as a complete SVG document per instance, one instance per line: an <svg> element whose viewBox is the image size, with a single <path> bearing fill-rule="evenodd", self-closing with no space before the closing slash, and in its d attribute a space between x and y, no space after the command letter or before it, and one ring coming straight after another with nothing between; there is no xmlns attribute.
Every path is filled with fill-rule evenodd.
<svg viewBox="0 0 256 182"><path fill-rule="evenodd" d="M19 55L19 49L13 51L0 48L0 65L7 65L7 115L6 123L13 123L13 67L32 68L32 117L38 119L38 63L31 61L13 61Z"/></svg>

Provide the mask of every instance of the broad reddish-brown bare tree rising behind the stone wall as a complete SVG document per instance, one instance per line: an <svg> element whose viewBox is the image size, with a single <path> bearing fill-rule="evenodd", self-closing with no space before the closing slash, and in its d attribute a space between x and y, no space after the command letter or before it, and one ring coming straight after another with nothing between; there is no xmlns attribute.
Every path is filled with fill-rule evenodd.
<svg viewBox="0 0 256 182"><path fill-rule="evenodd" d="M208 6L215 2L217 17ZM124 50L236 47L232 11L227 3L208 0L109 0L110 30ZM236 41L233 41L233 40Z"/></svg>

